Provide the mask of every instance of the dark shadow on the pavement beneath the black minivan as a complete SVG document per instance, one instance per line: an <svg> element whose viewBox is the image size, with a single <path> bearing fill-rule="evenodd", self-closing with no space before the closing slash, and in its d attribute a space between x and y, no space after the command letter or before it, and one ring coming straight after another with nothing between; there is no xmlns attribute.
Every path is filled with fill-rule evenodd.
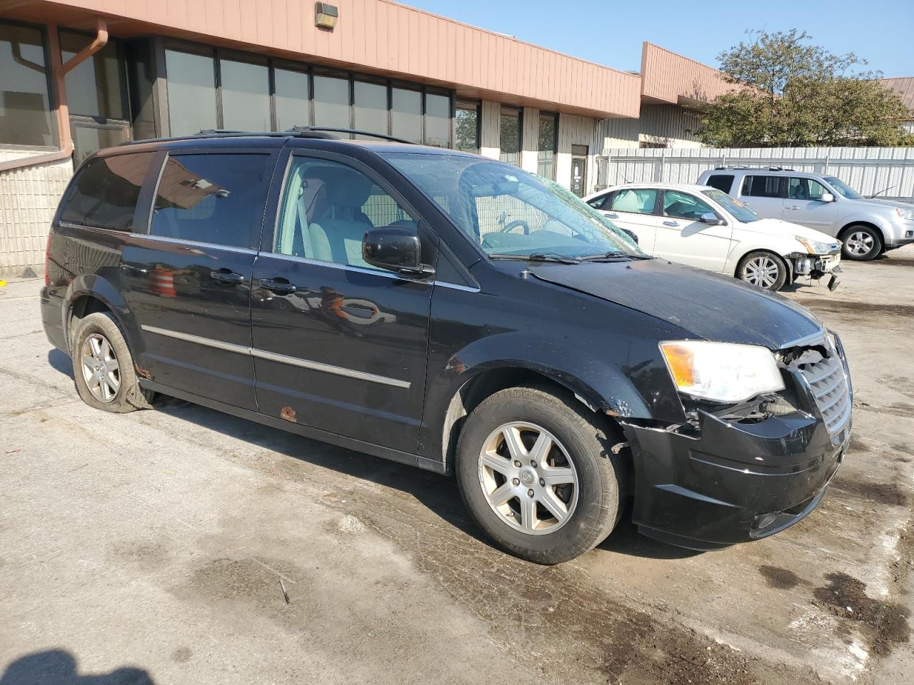
<svg viewBox="0 0 914 685"><path fill-rule="evenodd" d="M262 449L330 469L345 476L363 479L414 497L429 511L454 528L494 549L497 545L476 526L463 508L455 479L442 477L396 461L376 458L351 449L338 448L279 428L262 426L215 409L193 404L158 404L156 409L199 427L216 430ZM631 523L626 511L616 531L598 549L652 559L679 559L696 552L649 540Z"/></svg>

